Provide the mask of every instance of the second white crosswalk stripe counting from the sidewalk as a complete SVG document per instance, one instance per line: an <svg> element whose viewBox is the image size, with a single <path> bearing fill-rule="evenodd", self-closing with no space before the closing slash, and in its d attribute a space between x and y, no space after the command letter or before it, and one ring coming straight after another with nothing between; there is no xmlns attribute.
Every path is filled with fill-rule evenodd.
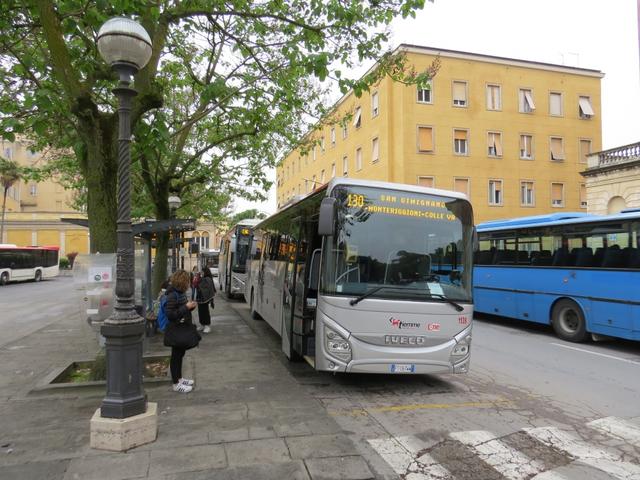
<svg viewBox="0 0 640 480"><path fill-rule="evenodd" d="M449 436L471 447L484 462L509 479L525 480L545 468L542 463L496 439L491 432L454 432Z"/></svg>

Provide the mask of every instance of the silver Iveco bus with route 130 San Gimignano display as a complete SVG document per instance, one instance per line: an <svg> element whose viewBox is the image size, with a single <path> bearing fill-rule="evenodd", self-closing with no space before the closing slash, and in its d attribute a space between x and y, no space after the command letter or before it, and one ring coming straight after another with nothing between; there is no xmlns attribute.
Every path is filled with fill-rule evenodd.
<svg viewBox="0 0 640 480"><path fill-rule="evenodd" d="M245 297L317 370L464 373L472 245L463 194L335 178L256 226Z"/></svg>

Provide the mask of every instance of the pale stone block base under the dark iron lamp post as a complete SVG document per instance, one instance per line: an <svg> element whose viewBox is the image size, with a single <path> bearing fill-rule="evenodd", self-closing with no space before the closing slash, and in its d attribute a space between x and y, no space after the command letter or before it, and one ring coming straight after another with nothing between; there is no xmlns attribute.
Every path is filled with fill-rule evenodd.
<svg viewBox="0 0 640 480"><path fill-rule="evenodd" d="M105 418L97 409L91 418L91 448L124 452L151 443L158 436L158 404L149 403L147 411L128 418Z"/></svg>

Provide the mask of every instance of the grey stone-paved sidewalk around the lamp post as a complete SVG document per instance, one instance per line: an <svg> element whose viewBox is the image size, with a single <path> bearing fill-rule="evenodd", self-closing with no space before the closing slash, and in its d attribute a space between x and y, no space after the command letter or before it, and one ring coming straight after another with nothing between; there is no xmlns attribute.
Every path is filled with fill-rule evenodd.
<svg viewBox="0 0 640 480"><path fill-rule="evenodd" d="M77 316L0 348L0 479L374 478L260 338L263 329L250 328L219 297L212 333L185 358L196 389L184 395L168 383L147 384L149 401L158 403L158 438L126 453L89 448L103 388L31 392L53 369L95 355L95 333ZM168 353L161 336L148 339L147 353Z"/></svg>

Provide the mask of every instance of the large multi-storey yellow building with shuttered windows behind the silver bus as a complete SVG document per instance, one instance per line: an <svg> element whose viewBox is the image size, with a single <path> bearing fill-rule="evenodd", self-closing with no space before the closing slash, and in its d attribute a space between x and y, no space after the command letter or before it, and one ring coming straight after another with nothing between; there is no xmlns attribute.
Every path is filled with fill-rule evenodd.
<svg viewBox="0 0 640 480"><path fill-rule="evenodd" d="M418 71L439 58L430 89L383 79L345 95L309 134L317 145L277 167L277 202L334 176L467 193L475 220L586 209L580 172L602 148L596 70L401 45Z"/></svg>

